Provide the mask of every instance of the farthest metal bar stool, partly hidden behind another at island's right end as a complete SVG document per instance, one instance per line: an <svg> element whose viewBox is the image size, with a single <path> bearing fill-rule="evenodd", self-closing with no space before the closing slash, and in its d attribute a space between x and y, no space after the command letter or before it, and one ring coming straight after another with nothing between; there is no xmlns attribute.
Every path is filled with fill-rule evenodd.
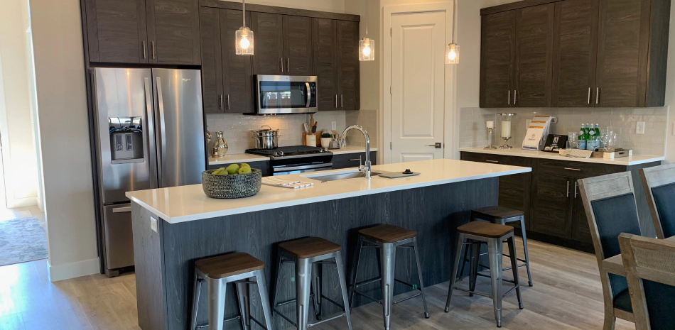
<svg viewBox="0 0 675 330"><path fill-rule="evenodd" d="M519 264L518 267L527 268L527 280L528 285L533 286L532 283L532 274L529 268L529 253L527 252L527 236L525 235L525 214L523 211L518 211L514 209L508 209L506 207L483 207L481 209L474 209L471 211L471 221L485 220L492 222L493 224L510 224L513 222L519 222L520 228L522 229L523 234L523 249L525 254L525 259L518 259L522 261L522 264ZM460 276L464 274L464 267L468 260L469 249L464 251L464 262L462 263L462 269L460 270ZM508 255L505 255L508 257ZM509 270L509 268L504 268L504 270ZM480 274L479 274L480 275Z"/></svg>

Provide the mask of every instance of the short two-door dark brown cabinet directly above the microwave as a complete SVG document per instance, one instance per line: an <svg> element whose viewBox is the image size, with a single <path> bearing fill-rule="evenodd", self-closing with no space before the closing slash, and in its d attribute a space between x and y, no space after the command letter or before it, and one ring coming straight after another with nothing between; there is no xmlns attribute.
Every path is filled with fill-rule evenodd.
<svg viewBox="0 0 675 330"><path fill-rule="evenodd" d="M312 18L252 13L257 75L313 75Z"/></svg>

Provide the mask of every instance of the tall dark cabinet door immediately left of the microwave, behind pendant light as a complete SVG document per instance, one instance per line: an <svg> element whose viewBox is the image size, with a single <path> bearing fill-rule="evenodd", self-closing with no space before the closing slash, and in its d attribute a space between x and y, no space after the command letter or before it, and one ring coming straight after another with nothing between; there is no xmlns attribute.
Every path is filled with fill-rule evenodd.
<svg viewBox="0 0 675 330"><path fill-rule="evenodd" d="M226 113L252 114L255 112L252 57L237 55L234 48L235 33L241 26L242 11L220 10L223 107ZM254 34L254 42L258 42L257 34ZM258 52L257 46L255 52Z"/></svg>

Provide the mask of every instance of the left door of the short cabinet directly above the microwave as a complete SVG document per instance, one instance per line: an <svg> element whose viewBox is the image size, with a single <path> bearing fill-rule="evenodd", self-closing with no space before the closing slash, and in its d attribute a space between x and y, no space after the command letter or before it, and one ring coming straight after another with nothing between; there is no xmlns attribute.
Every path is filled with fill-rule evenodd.
<svg viewBox="0 0 675 330"><path fill-rule="evenodd" d="M241 21L241 17L239 18ZM282 16L276 13L251 13L255 49L253 56L256 75L283 75L284 36ZM239 22L241 26L241 22Z"/></svg>

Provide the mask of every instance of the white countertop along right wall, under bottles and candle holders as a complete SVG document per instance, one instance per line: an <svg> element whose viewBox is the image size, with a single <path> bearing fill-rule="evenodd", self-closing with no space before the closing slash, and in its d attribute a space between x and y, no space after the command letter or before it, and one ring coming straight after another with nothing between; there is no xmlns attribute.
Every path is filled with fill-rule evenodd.
<svg viewBox="0 0 675 330"><path fill-rule="evenodd" d="M552 160L567 160L571 162L581 162L581 163L596 163L596 164L608 164L608 165L620 165L620 166L632 166L639 165L644 163L659 162L666 159L664 156L650 156L650 155L632 155L629 157L615 158L615 159L603 159L603 158L572 158L572 157L563 157L557 153L546 153L544 151L533 151L533 150L522 150L522 149L492 149L485 150L483 147L475 148L460 148L460 152L465 153L487 153L491 155L507 155L507 156L517 156L517 157L529 157L529 158L544 158Z"/></svg>

